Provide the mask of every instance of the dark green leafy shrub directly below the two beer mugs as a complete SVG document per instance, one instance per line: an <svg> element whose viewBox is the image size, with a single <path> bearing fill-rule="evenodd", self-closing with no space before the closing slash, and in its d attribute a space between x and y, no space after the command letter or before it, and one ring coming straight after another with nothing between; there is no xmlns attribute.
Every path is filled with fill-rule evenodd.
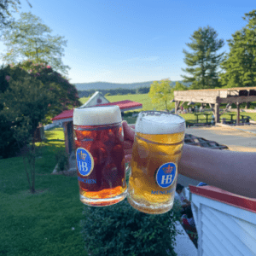
<svg viewBox="0 0 256 256"><path fill-rule="evenodd" d="M177 255L175 222L178 206L160 215L133 209L124 200L109 207L84 206L82 235L90 255L144 256Z"/></svg>

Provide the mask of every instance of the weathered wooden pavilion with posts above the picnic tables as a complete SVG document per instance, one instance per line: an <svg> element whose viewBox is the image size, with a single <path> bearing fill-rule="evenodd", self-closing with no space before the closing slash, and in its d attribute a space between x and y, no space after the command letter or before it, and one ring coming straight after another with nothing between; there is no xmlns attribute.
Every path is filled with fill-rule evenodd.
<svg viewBox="0 0 256 256"><path fill-rule="evenodd" d="M181 102L207 103L212 108L215 124L219 123L220 104L236 104L236 124L240 120L240 104L242 102L256 102L256 87L235 87L224 89L207 90L175 90L174 91L175 113L183 104Z"/></svg>

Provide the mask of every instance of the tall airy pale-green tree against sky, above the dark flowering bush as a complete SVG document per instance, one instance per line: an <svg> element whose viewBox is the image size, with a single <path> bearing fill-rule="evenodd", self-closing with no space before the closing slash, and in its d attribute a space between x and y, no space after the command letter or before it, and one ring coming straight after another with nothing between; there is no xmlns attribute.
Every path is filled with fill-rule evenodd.
<svg viewBox="0 0 256 256"><path fill-rule="evenodd" d="M61 57L64 55L64 46L67 40L61 36L52 36L49 26L29 13L21 13L20 19L10 24L11 28L3 31L3 44L7 47L3 54L3 61L17 64L20 61L30 60L35 64L50 65L56 71L67 74L67 69Z"/></svg>

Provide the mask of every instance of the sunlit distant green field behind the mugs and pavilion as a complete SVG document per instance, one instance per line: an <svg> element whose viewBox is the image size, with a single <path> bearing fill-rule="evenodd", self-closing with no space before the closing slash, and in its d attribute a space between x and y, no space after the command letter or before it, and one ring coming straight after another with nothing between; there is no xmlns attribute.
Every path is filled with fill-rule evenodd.
<svg viewBox="0 0 256 256"><path fill-rule="evenodd" d="M106 98L108 99L109 102L119 102L119 101L131 100L133 102L140 102L140 103L142 103L143 104L143 108L135 110L136 112L141 112L141 111L145 111L145 110L153 110L154 108L156 110L165 110L166 109L166 105L165 105L164 102L160 102L159 104L153 104L151 102L151 99L148 97L148 94L106 96ZM84 104L89 99L90 99L90 97L83 97L83 98L80 98L80 101L83 102L83 104ZM171 104L171 108L174 108L174 103ZM224 105L221 106L221 108L224 108ZM224 113L224 114L222 114L220 116L220 118L221 119L225 118L225 119L230 120L230 115L229 115L230 113L235 113L236 114L236 112ZM242 113L240 113L240 115L241 114L246 114L247 116L250 116L253 120L256 121L256 113L245 113L245 112L242 112ZM187 121L189 121L189 120L190 121L195 121L196 120L196 117L195 117L194 113L185 113L185 114L182 113L180 115L183 117L183 119L185 119ZM208 116L208 119L210 119L210 118L211 118L211 115ZM129 124L134 124L136 122L137 118L125 117L124 119L126 119ZM202 120L199 120L200 123L206 122L206 120L203 120L203 119L206 119L206 117L204 117L203 115L199 116L199 119L202 119ZM233 116L233 119L236 119L236 115Z"/></svg>

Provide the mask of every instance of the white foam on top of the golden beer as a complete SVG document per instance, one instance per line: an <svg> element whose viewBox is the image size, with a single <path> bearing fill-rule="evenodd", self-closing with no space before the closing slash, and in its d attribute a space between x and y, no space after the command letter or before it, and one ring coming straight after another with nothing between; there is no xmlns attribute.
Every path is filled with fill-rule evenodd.
<svg viewBox="0 0 256 256"><path fill-rule="evenodd" d="M158 111L139 113L135 125L135 131L143 134L172 134L185 129L185 119L177 114Z"/></svg>

